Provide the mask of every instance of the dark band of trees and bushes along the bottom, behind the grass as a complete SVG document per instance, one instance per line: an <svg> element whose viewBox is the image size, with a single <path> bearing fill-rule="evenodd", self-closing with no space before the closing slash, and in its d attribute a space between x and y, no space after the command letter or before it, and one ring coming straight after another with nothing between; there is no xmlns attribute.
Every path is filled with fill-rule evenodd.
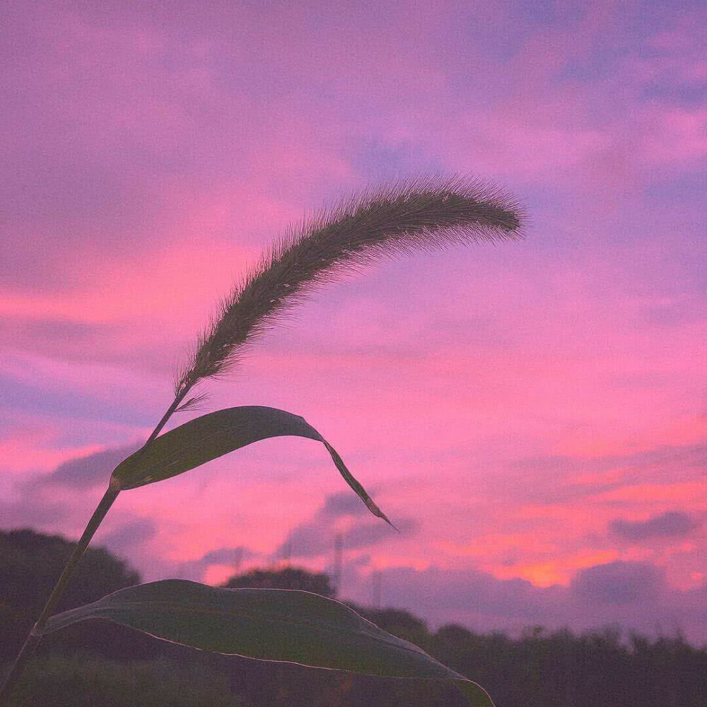
<svg viewBox="0 0 707 707"><path fill-rule="evenodd" d="M0 532L0 661L16 655L71 544L31 530ZM124 563L90 549L60 609L139 581ZM231 587L305 589L332 595L325 575L255 571ZM520 639L462 626L429 631L399 609L354 607L489 690L498 707L706 707L707 649L682 638L649 640L617 629L576 636L529 629ZM89 621L52 634L13 698L24 707L455 707L433 683L352 676L296 665L209 655Z"/></svg>

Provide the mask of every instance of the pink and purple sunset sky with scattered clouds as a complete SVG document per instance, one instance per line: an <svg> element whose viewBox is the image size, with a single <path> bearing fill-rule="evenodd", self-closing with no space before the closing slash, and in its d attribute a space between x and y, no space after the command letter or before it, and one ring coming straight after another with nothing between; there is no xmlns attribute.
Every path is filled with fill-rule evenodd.
<svg viewBox="0 0 707 707"><path fill-rule="evenodd" d="M263 247L356 189L489 178L518 243L320 288L201 410L305 417L122 493L145 580L281 561L438 626L707 642L703 2L4 7L0 527L78 537Z"/></svg>

